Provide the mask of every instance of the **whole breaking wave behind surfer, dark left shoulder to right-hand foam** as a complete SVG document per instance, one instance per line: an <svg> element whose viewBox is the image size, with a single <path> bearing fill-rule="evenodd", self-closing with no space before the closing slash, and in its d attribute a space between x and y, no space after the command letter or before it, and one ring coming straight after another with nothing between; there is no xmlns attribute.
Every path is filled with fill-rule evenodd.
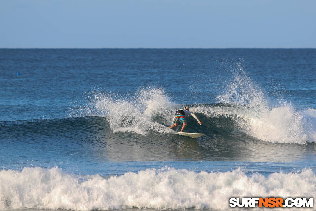
<svg viewBox="0 0 316 211"><path fill-rule="evenodd" d="M97 134L134 133L142 136L170 136L181 126L171 130L176 106L159 109L139 110L130 102L107 102L107 115L70 117L64 119L40 119L32 121L0 122L2 138L35 138L82 136L83 133ZM104 106L104 105L103 105ZM179 105L178 108L181 108ZM204 139L214 140L263 140L271 143L316 142L316 110L307 109L296 112L289 106L273 109L254 109L231 104L189 105L192 113L202 121L198 125L194 118L188 117L185 132L206 133ZM120 133L120 134L121 134ZM252 138L251 138L252 137ZM137 136L137 138L139 138Z"/></svg>

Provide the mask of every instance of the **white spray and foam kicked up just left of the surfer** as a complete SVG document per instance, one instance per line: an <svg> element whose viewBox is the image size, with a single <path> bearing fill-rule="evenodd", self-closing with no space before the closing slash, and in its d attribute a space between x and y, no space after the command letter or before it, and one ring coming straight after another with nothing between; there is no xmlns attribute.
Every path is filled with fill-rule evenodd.
<svg viewBox="0 0 316 211"><path fill-rule="evenodd" d="M163 90L140 88L130 99L115 97L113 94L94 93L91 107L105 116L113 132L132 132L146 135L149 132L172 133L163 124L171 124L173 105ZM91 108L90 108L91 109ZM157 122L154 118L159 116Z"/></svg>

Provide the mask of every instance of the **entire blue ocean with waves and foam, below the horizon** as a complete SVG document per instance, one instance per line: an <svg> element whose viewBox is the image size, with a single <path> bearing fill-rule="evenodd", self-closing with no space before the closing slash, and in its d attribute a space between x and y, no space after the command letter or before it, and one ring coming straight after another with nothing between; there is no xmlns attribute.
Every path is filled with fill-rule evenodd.
<svg viewBox="0 0 316 211"><path fill-rule="evenodd" d="M0 49L0 210L314 197L315 72L316 49ZM206 135L168 128L184 106Z"/></svg>

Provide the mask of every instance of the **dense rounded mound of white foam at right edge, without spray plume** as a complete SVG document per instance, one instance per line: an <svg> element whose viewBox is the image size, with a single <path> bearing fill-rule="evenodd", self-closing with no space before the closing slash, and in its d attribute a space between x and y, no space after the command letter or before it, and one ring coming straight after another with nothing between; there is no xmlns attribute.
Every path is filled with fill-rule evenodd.
<svg viewBox="0 0 316 211"><path fill-rule="evenodd" d="M253 114L242 115L239 120L246 133L258 139L277 143L316 142L316 124L309 121L310 112L297 112L289 105L263 109ZM315 118L314 118L315 119Z"/></svg>

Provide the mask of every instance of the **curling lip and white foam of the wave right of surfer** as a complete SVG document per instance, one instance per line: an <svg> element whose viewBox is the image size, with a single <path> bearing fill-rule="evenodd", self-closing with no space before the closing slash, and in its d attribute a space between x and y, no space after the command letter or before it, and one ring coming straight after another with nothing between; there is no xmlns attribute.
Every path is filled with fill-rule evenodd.
<svg viewBox="0 0 316 211"><path fill-rule="evenodd" d="M224 127L225 131L238 130L258 140L297 144L316 142L315 109L297 112L288 105L258 109L215 104L196 106L192 111L203 114L209 125L214 121L217 128ZM223 118L228 120L223 121Z"/></svg>

